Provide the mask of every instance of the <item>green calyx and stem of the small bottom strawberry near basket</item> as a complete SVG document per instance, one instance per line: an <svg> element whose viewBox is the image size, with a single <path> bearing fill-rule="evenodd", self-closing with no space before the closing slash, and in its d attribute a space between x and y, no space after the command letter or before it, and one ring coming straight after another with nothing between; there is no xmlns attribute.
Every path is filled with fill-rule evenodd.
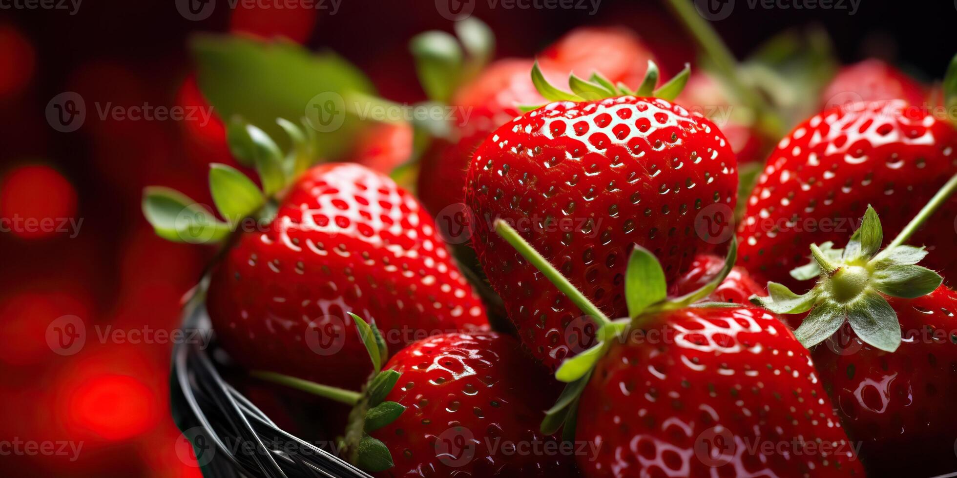
<svg viewBox="0 0 957 478"><path fill-rule="evenodd" d="M389 357L389 349L375 322L372 321L369 324L359 315L352 313L349 315L355 320L359 337L366 345L368 357L372 361L372 374L362 392L301 380L275 372L254 371L251 375L334 402L351 405L352 410L349 412L348 424L345 428L343 448L346 458L356 467L374 473L394 465L389 447L382 441L372 438L369 433L391 424L406 410L406 406L401 403L385 400L402 374L391 369L381 370Z"/></svg>

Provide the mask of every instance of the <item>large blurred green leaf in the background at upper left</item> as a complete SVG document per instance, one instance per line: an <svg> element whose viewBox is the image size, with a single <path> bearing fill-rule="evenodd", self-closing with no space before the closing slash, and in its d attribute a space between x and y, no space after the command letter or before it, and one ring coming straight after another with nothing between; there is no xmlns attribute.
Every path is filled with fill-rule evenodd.
<svg viewBox="0 0 957 478"><path fill-rule="evenodd" d="M195 36L190 47L200 89L213 111L223 119L240 116L281 141L286 140L276 119L308 116L306 110L317 96L375 93L362 71L339 55L312 54L288 40L203 34ZM335 131L313 136L315 157L342 155L364 127L362 121L345 121Z"/></svg>

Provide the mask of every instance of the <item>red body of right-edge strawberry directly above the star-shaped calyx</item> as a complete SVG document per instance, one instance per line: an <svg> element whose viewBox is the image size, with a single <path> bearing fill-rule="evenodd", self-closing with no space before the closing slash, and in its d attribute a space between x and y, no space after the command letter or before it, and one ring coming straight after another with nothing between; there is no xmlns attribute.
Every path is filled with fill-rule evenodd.
<svg viewBox="0 0 957 478"><path fill-rule="evenodd" d="M810 261L811 244L844 244L867 205L874 206L884 243L957 173L957 130L900 100L826 110L799 124L771 153L747 198L738 228L738 257L748 271L795 292L790 270ZM930 253L935 271L957 267L948 250L957 240L957 200L931 217L909 241ZM796 221L794 221L796 219Z"/></svg>

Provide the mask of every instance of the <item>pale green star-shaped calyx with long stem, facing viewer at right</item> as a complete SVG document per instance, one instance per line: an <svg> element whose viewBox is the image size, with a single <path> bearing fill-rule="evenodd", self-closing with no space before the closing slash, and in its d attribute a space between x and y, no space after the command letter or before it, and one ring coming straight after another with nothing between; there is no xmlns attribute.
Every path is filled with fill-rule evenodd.
<svg viewBox="0 0 957 478"><path fill-rule="evenodd" d="M790 272L798 280L816 276L817 284L811 291L797 294L782 284L768 282L769 295L752 295L751 302L776 314L810 311L794 331L794 337L805 347L831 337L847 321L865 343L885 352L896 351L901 346L901 324L885 296L916 298L932 293L943 282L937 272L917 265L927 255L923 247L903 243L954 190L957 176L883 250L880 218L868 205L860 227L844 249L835 249L831 242L812 244L812 262Z"/></svg>

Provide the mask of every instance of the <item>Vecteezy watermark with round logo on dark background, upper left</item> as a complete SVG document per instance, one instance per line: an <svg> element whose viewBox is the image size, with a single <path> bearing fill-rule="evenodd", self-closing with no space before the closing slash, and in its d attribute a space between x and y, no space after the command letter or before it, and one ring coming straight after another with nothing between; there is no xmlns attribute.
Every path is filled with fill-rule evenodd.
<svg viewBox="0 0 957 478"><path fill-rule="evenodd" d="M94 104L100 121L198 121L201 126L212 119L212 106L163 106L149 102L119 105L112 101ZM86 101L76 92L64 92L51 98L46 109L47 122L61 133L77 131L86 121Z"/></svg>

